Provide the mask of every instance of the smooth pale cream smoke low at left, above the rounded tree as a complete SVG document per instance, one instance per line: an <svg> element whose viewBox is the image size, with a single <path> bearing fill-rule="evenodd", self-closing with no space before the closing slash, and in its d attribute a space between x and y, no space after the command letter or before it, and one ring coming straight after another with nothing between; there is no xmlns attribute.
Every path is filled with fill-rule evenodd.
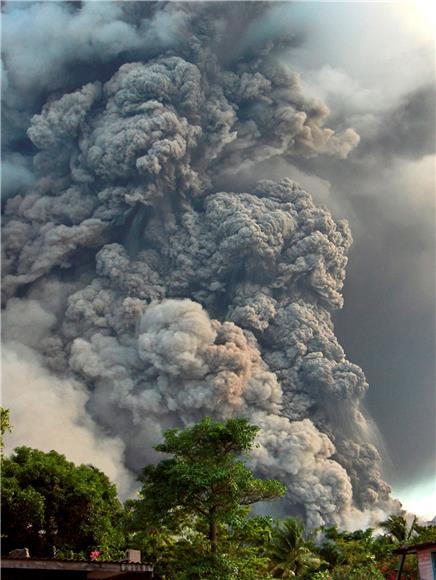
<svg viewBox="0 0 436 580"><path fill-rule="evenodd" d="M27 445L55 449L78 464L92 461L116 483L121 497L128 496L134 483L122 466L124 444L86 412L84 385L50 375L35 352L20 344L8 343L2 350L2 404L13 426L5 451Z"/></svg>

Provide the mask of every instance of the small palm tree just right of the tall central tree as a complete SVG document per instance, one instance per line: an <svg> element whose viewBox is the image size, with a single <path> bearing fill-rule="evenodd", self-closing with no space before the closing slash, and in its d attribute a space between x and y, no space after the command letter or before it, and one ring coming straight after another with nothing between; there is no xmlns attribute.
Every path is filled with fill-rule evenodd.
<svg viewBox="0 0 436 580"><path fill-rule="evenodd" d="M313 552L299 518L287 518L273 530L268 548L274 578L293 578L319 567L321 561Z"/></svg>

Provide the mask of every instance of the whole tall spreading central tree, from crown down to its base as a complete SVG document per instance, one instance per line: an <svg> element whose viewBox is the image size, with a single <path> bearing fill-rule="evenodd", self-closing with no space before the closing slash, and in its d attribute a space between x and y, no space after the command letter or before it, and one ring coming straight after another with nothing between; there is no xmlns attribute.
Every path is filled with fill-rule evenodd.
<svg viewBox="0 0 436 580"><path fill-rule="evenodd" d="M244 464L258 431L245 419L223 424L209 418L184 430L169 430L156 450L172 457L142 472L140 499L128 504L132 530L171 530L177 546L184 546L191 560L196 556L190 568L186 564L187 577L249 577L241 575L241 562L230 554L229 537L238 529L240 541L248 519L243 506L285 493L281 483L255 478ZM183 576L173 572L172 577Z"/></svg>

